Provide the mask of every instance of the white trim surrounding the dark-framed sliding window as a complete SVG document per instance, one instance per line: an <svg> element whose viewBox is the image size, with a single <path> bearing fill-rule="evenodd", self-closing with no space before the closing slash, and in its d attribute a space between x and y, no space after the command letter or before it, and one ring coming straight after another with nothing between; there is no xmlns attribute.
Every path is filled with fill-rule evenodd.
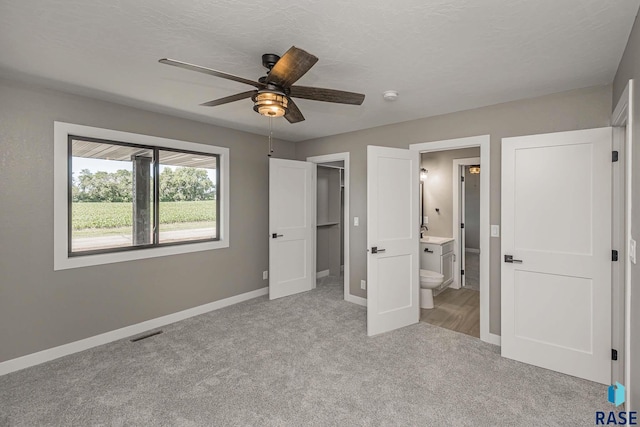
<svg viewBox="0 0 640 427"><path fill-rule="evenodd" d="M68 224L68 138L69 135L84 136L132 144L172 148L185 151L217 154L220 156L219 189L220 217L217 218L219 240L196 242L183 245L161 246L139 250L69 256ZM88 267L137 259L155 258L167 255L185 254L229 247L229 149L177 139L160 138L130 132L121 132L72 123L54 122L53 149L53 269Z"/></svg>

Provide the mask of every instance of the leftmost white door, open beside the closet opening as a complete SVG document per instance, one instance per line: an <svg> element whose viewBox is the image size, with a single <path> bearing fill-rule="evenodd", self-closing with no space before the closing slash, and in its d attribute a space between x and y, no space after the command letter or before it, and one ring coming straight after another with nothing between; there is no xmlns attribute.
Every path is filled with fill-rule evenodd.
<svg viewBox="0 0 640 427"><path fill-rule="evenodd" d="M269 299L315 280L315 164L269 159Z"/></svg>

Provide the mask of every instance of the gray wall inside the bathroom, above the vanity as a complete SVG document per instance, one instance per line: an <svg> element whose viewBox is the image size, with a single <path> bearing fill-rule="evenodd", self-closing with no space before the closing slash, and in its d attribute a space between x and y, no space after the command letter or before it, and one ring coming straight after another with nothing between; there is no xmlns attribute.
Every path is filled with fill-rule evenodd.
<svg viewBox="0 0 640 427"><path fill-rule="evenodd" d="M424 215L429 217L428 236L453 236L453 159L480 157L480 148L436 151L421 155L427 172L423 181ZM440 212L436 212L436 208ZM457 221L457 219L456 219Z"/></svg>

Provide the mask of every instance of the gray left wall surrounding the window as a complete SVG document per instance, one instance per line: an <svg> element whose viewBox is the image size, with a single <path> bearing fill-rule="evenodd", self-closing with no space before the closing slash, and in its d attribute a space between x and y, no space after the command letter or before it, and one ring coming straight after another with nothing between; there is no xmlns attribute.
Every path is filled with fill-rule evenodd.
<svg viewBox="0 0 640 427"><path fill-rule="evenodd" d="M266 137L7 80L0 100L0 362L267 286ZM229 147L230 247L54 272L54 120Z"/></svg>

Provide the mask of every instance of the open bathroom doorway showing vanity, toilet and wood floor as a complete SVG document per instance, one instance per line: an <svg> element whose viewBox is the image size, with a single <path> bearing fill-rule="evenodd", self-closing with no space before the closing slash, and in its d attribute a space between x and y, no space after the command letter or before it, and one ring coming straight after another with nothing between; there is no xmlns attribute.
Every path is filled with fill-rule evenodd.
<svg viewBox="0 0 640 427"><path fill-rule="evenodd" d="M475 338L480 338L479 164L479 147L421 154L421 281L433 273L442 281L430 291L433 303L421 303L420 318ZM428 299L428 292L421 291L421 297Z"/></svg>

